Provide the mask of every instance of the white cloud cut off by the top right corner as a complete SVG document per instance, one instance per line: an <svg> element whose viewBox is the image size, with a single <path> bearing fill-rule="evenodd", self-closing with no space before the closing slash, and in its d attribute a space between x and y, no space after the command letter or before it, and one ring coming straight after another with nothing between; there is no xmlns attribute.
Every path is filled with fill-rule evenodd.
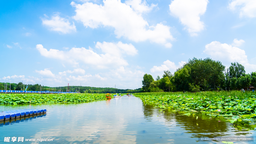
<svg viewBox="0 0 256 144"><path fill-rule="evenodd" d="M231 11L239 11L239 17L256 17L256 1L255 0L232 0L228 8Z"/></svg>

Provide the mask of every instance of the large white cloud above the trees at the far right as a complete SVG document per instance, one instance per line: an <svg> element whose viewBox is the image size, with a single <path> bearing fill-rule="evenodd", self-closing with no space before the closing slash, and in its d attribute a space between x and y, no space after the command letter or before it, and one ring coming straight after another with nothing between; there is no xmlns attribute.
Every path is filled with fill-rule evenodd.
<svg viewBox="0 0 256 144"><path fill-rule="evenodd" d="M238 47L214 41L205 46L204 53L210 55L214 60L221 61L226 67L229 67L230 63L238 62L245 67L247 72L256 70L256 65L249 64L245 51Z"/></svg>

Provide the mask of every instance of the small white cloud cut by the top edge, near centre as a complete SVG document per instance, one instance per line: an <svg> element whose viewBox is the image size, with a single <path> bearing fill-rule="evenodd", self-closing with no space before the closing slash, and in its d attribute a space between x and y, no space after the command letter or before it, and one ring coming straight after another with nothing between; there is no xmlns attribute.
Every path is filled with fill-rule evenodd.
<svg viewBox="0 0 256 144"><path fill-rule="evenodd" d="M125 1L125 4L130 5L137 13L150 12L154 7L157 6L157 4L153 3L149 6L145 0L127 0Z"/></svg>

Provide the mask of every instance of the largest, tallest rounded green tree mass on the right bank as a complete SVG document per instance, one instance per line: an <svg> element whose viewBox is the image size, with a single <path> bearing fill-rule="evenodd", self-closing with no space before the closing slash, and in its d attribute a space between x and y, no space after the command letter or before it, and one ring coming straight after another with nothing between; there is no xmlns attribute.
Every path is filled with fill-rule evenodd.
<svg viewBox="0 0 256 144"><path fill-rule="evenodd" d="M182 71L182 69L184 69L184 71ZM216 89L216 87L220 87L223 82L224 71L225 66L223 66L220 61L215 61L210 58L189 59L188 63L177 69L176 74L174 74L176 89L189 89L189 83L190 87L194 85L193 87L197 88L199 86L204 90ZM179 74L183 74L183 78L181 78Z"/></svg>

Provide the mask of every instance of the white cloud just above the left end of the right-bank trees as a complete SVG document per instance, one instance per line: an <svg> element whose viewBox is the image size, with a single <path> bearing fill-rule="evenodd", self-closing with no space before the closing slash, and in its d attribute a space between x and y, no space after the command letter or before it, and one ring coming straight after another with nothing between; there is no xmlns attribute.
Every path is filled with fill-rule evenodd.
<svg viewBox="0 0 256 144"><path fill-rule="evenodd" d="M155 72L164 72L164 70L170 70L170 71L175 71L177 68L182 67L186 62L181 61L176 65L174 62L166 60L164 61L164 64L161 66L153 66L153 68L150 69L152 73Z"/></svg>

